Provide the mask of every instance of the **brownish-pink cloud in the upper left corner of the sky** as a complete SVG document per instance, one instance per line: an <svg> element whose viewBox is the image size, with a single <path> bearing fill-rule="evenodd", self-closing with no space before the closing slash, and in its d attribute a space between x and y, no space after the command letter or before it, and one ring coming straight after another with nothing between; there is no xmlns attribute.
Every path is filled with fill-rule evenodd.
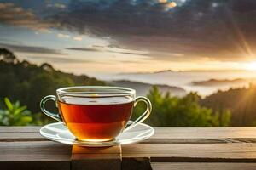
<svg viewBox="0 0 256 170"><path fill-rule="evenodd" d="M38 18L31 10L15 6L14 3L0 3L0 23L23 26L32 30L46 31L53 24Z"/></svg>

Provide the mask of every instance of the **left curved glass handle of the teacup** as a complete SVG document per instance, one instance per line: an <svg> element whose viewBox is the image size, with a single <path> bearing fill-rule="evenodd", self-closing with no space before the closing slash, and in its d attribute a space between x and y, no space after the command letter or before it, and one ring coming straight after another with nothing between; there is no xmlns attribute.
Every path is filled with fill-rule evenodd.
<svg viewBox="0 0 256 170"><path fill-rule="evenodd" d="M55 101L56 103L56 97L54 95L48 95L48 96L45 96L41 102L40 102L40 108L41 108L41 111L44 112L45 115L55 119L56 121L59 121L59 122L62 122L61 120L61 116L59 113L51 113L49 111L47 111L45 108L44 108L44 105L45 103L48 101L48 100L53 100Z"/></svg>

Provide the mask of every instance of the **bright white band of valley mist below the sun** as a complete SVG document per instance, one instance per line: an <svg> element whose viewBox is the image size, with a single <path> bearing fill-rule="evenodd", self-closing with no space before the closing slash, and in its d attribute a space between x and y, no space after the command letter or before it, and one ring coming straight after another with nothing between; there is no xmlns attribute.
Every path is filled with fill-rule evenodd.
<svg viewBox="0 0 256 170"><path fill-rule="evenodd" d="M256 79L256 71L159 71L154 73L111 74L98 77L106 81L129 80L148 84L165 84L207 96L220 90L247 87L239 79ZM236 80L237 79L237 80ZM219 81L218 81L219 80ZM235 80L235 81L229 81ZM209 81L209 82L207 82ZM191 82L194 82L193 84Z"/></svg>

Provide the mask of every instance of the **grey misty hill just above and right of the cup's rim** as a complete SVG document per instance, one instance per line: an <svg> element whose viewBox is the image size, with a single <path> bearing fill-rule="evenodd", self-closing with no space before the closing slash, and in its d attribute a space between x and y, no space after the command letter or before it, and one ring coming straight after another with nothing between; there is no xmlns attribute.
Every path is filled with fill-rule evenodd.
<svg viewBox="0 0 256 170"><path fill-rule="evenodd" d="M153 85L157 86L160 89L160 92L162 93L170 92L172 95L175 95L175 96L183 96L186 94L186 91L183 88L178 88L175 86L149 84L149 83L143 83L143 82L132 82L127 80L111 81L109 83L113 84L114 86L133 88L136 90L137 95L143 95L143 96L148 94L149 89L152 88Z"/></svg>

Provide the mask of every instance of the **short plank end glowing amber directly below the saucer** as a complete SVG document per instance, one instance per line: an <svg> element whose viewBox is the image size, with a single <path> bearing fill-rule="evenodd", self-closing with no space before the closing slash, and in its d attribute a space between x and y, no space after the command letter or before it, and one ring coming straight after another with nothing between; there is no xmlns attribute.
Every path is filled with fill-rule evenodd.
<svg viewBox="0 0 256 170"><path fill-rule="evenodd" d="M73 170L86 169L121 169L121 147L79 147L73 145L71 167Z"/></svg>

